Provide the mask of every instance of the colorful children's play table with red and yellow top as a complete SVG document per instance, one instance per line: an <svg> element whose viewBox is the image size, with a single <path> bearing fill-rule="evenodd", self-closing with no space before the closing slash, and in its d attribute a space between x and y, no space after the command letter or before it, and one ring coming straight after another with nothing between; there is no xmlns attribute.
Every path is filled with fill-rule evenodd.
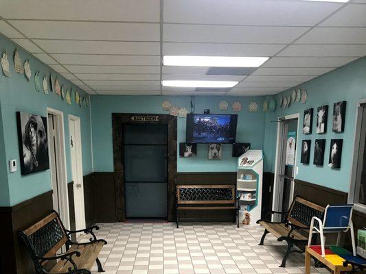
<svg viewBox="0 0 366 274"><path fill-rule="evenodd" d="M334 274L339 274L343 271L354 271L351 264L346 264L343 266L343 262L354 262L359 265L366 264L366 260L353 256L350 251L343 249L342 247L330 246L325 247L325 256L324 258L321 256L321 246L320 245L312 245L310 247L306 247L305 254L305 273L310 274L310 264L311 258L315 258L319 260L319 262L328 266L330 270L333 271Z"/></svg>

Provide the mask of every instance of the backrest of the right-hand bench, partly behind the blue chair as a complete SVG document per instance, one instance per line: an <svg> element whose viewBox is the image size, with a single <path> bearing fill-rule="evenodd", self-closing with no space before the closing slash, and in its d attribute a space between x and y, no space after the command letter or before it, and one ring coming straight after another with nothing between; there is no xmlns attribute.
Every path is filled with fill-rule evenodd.
<svg viewBox="0 0 366 274"><path fill-rule="evenodd" d="M310 227L313 216L323 219L325 208L300 197L295 197L288 212L287 220L294 225Z"/></svg>

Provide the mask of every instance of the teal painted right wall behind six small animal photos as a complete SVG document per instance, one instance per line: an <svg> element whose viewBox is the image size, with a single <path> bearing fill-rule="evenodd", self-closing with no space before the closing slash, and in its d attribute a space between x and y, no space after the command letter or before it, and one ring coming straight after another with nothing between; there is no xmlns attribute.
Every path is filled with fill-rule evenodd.
<svg viewBox="0 0 366 274"><path fill-rule="evenodd" d="M270 123L270 121L277 120L280 116L299 113L299 123L301 125L299 142L301 144L301 140L310 139L312 140L312 144L310 164L300 163L301 145L298 146L297 166L299 166L299 174L296 176L297 179L348 192L350 190L350 174L352 171L356 107L359 99L366 98L366 58L358 59L335 71L312 79L309 82L301 84L301 87L306 88L308 92L308 101L305 104L293 103L286 110L277 107L275 112L269 112L266 115L266 137L264 142L266 170L275 170L277 124ZM286 90L280 93L276 96L276 102L278 103L280 97L290 95L291 92L292 90ZM333 103L337 101L347 101L344 133L332 132ZM327 133L317 134L315 129L317 123L317 107L327 104L329 105ZM304 135L302 134L304 110L308 108L314 108L312 134ZM330 140L332 138L343 139L341 169L331 169L328 166ZM312 164L315 139L326 139L324 166L322 167Z"/></svg>

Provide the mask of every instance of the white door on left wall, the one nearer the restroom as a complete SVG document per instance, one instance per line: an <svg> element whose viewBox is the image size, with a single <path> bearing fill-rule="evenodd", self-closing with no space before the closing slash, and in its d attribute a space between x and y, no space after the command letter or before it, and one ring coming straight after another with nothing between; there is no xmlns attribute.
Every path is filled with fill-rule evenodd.
<svg viewBox="0 0 366 274"><path fill-rule="evenodd" d="M82 149L80 119L69 115L69 135L71 151L71 172L73 179L73 198L75 204L76 230L85 228L84 182L82 179Z"/></svg>

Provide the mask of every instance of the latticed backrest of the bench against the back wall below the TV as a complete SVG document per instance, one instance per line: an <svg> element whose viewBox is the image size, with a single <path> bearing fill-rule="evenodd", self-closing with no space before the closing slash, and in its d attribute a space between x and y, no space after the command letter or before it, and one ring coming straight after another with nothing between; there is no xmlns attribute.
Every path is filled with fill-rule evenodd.
<svg viewBox="0 0 366 274"><path fill-rule="evenodd" d="M229 184L176 186L176 199L178 204L235 203L235 192L235 186Z"/></svg>

